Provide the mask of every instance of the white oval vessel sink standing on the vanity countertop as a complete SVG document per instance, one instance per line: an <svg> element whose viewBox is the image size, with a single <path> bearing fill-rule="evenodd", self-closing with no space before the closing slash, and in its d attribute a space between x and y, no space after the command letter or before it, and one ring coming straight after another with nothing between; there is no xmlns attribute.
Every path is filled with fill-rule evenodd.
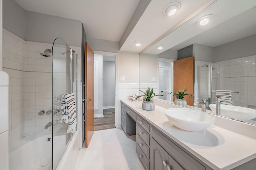
<svg viewBox="0 0 256 170"><path fill-rule="evenodd" d="M164 114L170 122L186 131L202 131L215 122L215 117L199 110L169 108Z"/></svg>

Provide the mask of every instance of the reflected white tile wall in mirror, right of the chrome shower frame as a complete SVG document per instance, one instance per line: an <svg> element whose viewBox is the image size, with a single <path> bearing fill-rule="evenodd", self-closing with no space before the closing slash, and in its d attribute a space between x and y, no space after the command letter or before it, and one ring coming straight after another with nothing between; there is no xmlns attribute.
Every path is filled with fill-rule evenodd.
<svg viewBox="0 0 256 170"><path fill-rule="evenodd" d="M256 106L256 55L214 63L213 67L212 90L232 90L233 105Z"/></svg>

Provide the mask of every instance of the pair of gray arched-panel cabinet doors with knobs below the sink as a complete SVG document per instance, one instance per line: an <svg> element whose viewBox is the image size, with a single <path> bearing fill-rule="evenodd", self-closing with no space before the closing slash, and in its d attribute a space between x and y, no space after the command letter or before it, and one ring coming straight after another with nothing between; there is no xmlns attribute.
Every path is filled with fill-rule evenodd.
<svg viewBox="0 0 256 170"><path fill-rule="evenodd" d="M150 144L150 170L184 170L153 138Z"/></svg>

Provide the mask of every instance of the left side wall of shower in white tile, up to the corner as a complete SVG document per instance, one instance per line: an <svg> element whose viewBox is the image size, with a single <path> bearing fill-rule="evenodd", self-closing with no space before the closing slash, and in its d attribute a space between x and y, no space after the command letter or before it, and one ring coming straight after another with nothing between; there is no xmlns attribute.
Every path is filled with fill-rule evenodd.
<svg viewBox="0 0 256 170"><path fill-rule="evenodd" d="M24 136L26 112L25 41L3 29L3 71L9 75L9 143Z"/></svg>

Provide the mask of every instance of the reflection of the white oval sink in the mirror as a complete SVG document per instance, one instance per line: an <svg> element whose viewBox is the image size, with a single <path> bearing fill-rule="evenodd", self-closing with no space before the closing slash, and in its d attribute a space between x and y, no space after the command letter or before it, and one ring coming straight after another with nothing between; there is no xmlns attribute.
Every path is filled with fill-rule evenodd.
<svg viewBox="0 0 256 170"><path fill-rule="evenodd" d="M216 112L216 104L209 104L209 107L212 111ZM256 117L256 109L220 104L220 115L240 121L247 121Z"/></svg>

